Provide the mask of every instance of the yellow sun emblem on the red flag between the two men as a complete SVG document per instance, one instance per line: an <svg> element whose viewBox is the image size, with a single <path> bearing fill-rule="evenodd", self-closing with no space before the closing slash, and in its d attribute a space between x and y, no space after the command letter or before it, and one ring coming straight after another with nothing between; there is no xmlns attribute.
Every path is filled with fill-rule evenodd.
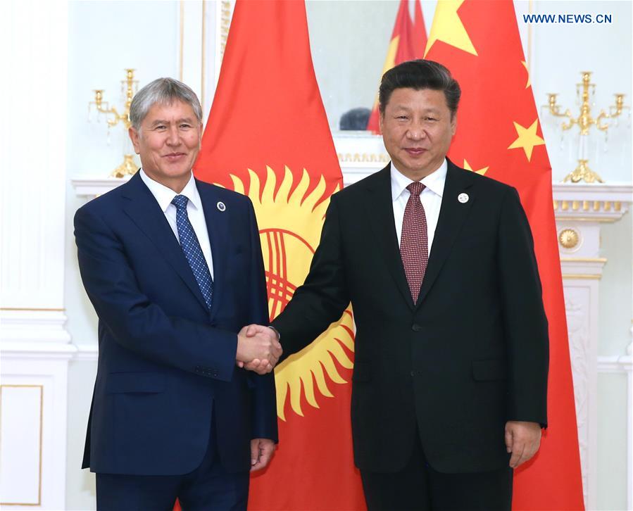
<svg viewBox="0 0 633 511"><path fill-rule="evenodd" d="M303 169L301 179L293 189L292 172L285 167L284 177L276 193L277 175L272 168L266 167L263 184L251 169L249 177L250 186L246 190L242 179L231 175L234 190L249 196L255 207L268 289L268 312L272 319L284 309L308 275L330 197L325 198L326 183L323 176L308 193L313 183L306 169ZM334 191L338 190L339 187ZM302 398L314 408L319 408L318 394L334 397L327 386L327 379L335 384L347 383L334 363L336 361L346 369L353 367L343 346L353 353L351 307L310 346L275 367L277 415L280 419L286 419L284 407L287 399L292 410L303 417Z"/></svg>

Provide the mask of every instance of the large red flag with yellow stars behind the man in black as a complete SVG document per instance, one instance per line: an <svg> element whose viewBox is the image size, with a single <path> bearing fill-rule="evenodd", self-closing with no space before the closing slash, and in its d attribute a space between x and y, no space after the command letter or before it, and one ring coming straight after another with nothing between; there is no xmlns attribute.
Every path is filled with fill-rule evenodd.
<svg viewBox="0 0 633 511"><path fill-rule="evenodd" d="M468 170L518 189L534 234L549 321L549 427L539 453L515 471L513 509L582 510L551 167L513 2L438 2L426 58L446 65L462 88L449 157Z"/></svg>

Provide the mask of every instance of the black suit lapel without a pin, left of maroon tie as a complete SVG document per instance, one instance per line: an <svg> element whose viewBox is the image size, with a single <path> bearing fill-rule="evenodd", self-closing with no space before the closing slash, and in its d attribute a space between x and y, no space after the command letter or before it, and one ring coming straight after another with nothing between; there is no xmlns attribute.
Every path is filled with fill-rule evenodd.
<svg viewBox="0 0 633 511"><path fill-rule="evenodd" d="M409 284L404 273L400 244L396 234L389 169L390 165L387 165L387 167L378 172L376 179L368 185L371 193L368 194L365 210L368 218L370 218L370 225L375 234L375 243L384 258L384 263L406 303L413 309L413 299L411 298Z"/></svg>

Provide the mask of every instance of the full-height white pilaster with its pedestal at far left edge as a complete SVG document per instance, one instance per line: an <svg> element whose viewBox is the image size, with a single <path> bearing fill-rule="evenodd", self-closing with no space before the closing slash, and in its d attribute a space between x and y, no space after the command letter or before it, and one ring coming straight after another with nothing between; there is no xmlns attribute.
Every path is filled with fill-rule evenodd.
<svg viewBox="0 0 633 511"><path fill-rule="evenodd" d="M67 1L5 2L0 32L11 129L4 132L0 229L0 500L65 509ZM51 80L54 77L54 80ZM44 92L45 91L45 92ZM45 113L34 97L46 96ZM18 113L19 112L19 113ZM37 142L24 134L33 131Z"/></svg>

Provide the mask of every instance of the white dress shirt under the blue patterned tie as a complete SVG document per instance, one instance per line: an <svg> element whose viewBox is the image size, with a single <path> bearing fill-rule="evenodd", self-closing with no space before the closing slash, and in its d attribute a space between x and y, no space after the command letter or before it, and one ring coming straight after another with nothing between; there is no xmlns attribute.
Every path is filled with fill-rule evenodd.
<svg viewBox="0 0 633 511"><path fill-rule="evenodd" d="M196 181L193 173L189 178L187 186L182 189L180 194L177 194L172 189L165 187L164 184L151 179L151 177L146 175L143 169L139 172L141 174L141 179L143 179L143 182L147 185L151 194L156 198L158 206L161 206L161 210L165 213L165 218L167 218L169 226L174 232L174 236L176 236L178 243L180 243L180 238L178 237L178 227L176 225L176 206L174 206L171 201L177 195L184 195L189 199L189 202L187 202L187 216L189 217L189 222L192 223L192 227L194 227L196 236L198 236L200 248L202 249L206 264L209 267L209 272L211 272L211 279L213 279L211 243L209 242L209 233L206 229L206 220L204 219L202 201L200 194L198 193L198 187L196 187Z"/></svg>

